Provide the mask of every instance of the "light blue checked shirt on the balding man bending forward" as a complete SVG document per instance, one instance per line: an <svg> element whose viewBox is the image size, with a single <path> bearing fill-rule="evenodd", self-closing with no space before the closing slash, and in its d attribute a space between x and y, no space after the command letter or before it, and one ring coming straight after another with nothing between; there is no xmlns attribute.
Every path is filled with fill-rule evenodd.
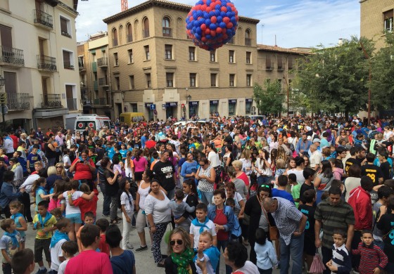
<svg viewBox="0 0 394 274"><path fill-rule="evenodd" d="M289 200L280 197L273 199L278 201L278 208L272 213L272 217L274 217L275 223L277 224L279 235L286 245L288 245L291 241L291 235L293 235L294 231L300 225L303 214Z"/></svg>

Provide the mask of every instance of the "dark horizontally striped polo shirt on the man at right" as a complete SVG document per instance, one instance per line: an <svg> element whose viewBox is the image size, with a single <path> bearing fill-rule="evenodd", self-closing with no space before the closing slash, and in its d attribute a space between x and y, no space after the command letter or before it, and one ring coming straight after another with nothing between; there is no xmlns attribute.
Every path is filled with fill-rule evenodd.
<svg viewBox="0 0 394 274"><path fill-rule="evenodd" d="M322 221L322 246L331 249L333 245L333 230L348 231L349 225L355 224L355 214L347 202L341 200L338 205L331 205L329 198L317 204L314 219Z"/></svg>

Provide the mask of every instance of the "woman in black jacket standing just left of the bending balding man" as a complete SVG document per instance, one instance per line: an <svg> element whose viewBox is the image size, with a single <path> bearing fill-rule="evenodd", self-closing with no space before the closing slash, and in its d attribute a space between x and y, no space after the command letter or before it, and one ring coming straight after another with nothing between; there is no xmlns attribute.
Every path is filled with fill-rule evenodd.
<svg viewBox="0 0 394 274"><path fill-rule="evenodd" d="M255 252L255 231L258 228L264 229L265 233L267 233L267 239L269 239L269 225L275 225L272 215L269 212L265 211L264 207L262 207L262 201L266 197L272 197L271 188L269 187L269 185L260 185L258 188L258 195L250 197L250 199L247 200L245 204L244 213L250 216L248 240L250 244L249 260L252 263L257 262Z"/></svg>

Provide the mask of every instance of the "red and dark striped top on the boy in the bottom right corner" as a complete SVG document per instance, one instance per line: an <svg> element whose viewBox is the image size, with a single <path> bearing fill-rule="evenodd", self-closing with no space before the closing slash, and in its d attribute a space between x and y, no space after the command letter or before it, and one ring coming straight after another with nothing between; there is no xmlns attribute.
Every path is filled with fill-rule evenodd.
<svg viewBox="0 0 394 274"><path fill-rule="evenodd" d="M363 242L358 244L357 249L352 250L353 255L360 255L360 274L374 273L375 268L384 269L388 263L386 254L376 244L367 247Z"/></svg>

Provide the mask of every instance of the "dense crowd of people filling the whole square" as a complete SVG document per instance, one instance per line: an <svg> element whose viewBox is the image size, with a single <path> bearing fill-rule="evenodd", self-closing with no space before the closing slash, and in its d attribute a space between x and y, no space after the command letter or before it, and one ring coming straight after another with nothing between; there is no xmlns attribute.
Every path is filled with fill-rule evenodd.
<svg viewBox="0 0 394 274"><path fill-rule="evenodd" d="M133 251L151 251L165 273L220 273L223 257L227 274L300 274L318 252L324 273L394 273L393 123L212 115L3 133L3 271L135 273Z"/></svg>

